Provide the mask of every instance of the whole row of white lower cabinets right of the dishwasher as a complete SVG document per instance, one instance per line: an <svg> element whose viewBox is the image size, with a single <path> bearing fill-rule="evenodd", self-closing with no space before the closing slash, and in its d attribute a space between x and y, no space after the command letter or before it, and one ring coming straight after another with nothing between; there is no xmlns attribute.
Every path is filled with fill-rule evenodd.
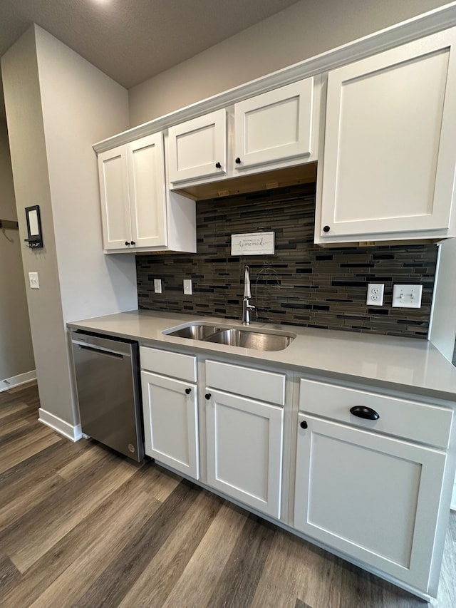
<svg viewBox="0 0 456 608"><path fill-rule="evenodd" d="M142 346L140 360L147 455L436 596L455 465L451 403L302 377L299 394L287 393L286 373L206 359L198 411L196 356Z"/></svg>

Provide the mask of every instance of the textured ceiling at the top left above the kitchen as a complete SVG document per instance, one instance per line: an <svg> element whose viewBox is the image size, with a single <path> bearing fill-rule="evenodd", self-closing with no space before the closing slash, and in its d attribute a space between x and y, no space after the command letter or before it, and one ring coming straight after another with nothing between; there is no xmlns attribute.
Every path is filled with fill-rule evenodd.
<svg viewBox="0 0 456 608"><path fill-rule="evenodd" d="M296 1L0 0L0 56L36 23L130 88Z"/></svg>

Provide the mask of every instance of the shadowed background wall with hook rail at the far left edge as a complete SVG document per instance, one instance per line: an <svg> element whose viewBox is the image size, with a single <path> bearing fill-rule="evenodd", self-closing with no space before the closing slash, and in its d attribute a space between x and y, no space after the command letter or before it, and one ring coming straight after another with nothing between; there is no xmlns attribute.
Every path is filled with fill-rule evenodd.
<svg viewBox="0 0 456 608"><path fill-rule="evenodd" d="M6 123L0 120L0 220L17 220ZM0 230L0 391L33 376L35 362L18 230ZM19 376L19 377L18 377Z"/></svg>

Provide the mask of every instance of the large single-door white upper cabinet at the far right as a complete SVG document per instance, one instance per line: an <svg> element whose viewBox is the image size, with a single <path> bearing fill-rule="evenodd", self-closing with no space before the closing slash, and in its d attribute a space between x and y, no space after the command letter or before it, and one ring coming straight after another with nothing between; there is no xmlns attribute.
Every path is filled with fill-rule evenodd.
<svg viewBox="0 0 456 608"><path fill-rule="evenodd" d="M455 235L455 29L328 74L316 242Z"/></svg>

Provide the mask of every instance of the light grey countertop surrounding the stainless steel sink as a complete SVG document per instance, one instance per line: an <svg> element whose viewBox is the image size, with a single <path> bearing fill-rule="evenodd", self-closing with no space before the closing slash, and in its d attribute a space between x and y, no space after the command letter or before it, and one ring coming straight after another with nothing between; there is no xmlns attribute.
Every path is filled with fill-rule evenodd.
<svg viewBox="0 0 456 608"><path fill-rule="evenodd" d="M193 316L145 310L132 310L94 319L68 323L110 336L138 340L150 346L176 346L195 353L230 355L242 362L279 366L317 376L389 388L418 396L456 400L456 368L430 342L423 339L396 338L353 331L311 329L300 326L252 323L296 334L283 351L257 351L198 340L167 336L162 332L194 321L224 326L241 326L239 321L214 316ZM183 347L183 348L182 348Z"/></svg>

